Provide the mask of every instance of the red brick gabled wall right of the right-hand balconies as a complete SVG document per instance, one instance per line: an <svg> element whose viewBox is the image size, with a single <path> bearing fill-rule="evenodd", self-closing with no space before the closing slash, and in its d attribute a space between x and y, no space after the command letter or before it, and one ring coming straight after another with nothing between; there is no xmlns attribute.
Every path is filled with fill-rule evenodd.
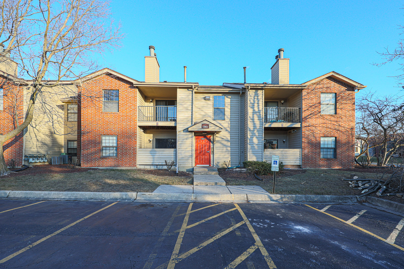
<svg viewBox="0 0 404 269"><path fill-rule="evenodd" d="M321 93L336 93L337 114L321 115ZM303 90L302 168L353 168L355 94L353 87L327 77ZM321 158L321 137L336 137L336 158Z"/></svg>

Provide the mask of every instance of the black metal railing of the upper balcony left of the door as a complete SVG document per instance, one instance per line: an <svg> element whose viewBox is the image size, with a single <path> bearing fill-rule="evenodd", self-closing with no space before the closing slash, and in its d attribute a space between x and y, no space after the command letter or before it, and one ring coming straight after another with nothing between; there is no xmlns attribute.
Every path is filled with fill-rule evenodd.
<svg viewBox="0 0 404 269"><path fill-rule="evenodd" d="M177 121L177 106L138 106L138 121Z"/></svg>

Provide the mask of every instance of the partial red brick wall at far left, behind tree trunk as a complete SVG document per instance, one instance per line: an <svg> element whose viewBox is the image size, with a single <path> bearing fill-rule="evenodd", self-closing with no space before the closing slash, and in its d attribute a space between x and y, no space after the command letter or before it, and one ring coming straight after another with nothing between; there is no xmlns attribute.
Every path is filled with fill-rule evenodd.
<svg viewBox="0 0 404 269"><path fill-rule="evenodd" d="M16 127L16 110L19 123L21 124L23 122L23 88L15 85L13 81L3 76L0 76L0 87L3 88L3 110L0 110L0 134L6 134ZM7 165L10 159L14 159L16 166L22 165L22 132L4 143L3 152L4 160Z"/></svg>

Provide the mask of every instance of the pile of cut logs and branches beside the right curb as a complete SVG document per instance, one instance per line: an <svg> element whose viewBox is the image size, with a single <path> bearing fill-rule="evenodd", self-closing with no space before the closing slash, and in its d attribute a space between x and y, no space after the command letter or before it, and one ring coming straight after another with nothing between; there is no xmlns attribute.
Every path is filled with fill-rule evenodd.
<svg viewBox="0 0 404 269"><path fill-rule="evenodd" d="M385 177L387 175L387 177ZM385 174L379 179L359 178L355 174L351 174L349 179L342 180L349 182L349 187L356 190L362 190L362 194L358 197L376 192L378 196L396 195L404 199L404 178L402 173Z"/></svg>

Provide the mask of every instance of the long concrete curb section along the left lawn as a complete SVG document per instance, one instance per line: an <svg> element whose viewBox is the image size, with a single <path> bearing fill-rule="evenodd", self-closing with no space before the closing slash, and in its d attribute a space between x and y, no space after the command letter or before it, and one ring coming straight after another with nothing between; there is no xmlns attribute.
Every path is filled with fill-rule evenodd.
<svg viewBox="0 0 404 269"><path fill-rule="evenodd" d="M35 192L10 191L8 199L29 200L78 200L78 201L122 201L133 202L136 192Z"/></svg>

